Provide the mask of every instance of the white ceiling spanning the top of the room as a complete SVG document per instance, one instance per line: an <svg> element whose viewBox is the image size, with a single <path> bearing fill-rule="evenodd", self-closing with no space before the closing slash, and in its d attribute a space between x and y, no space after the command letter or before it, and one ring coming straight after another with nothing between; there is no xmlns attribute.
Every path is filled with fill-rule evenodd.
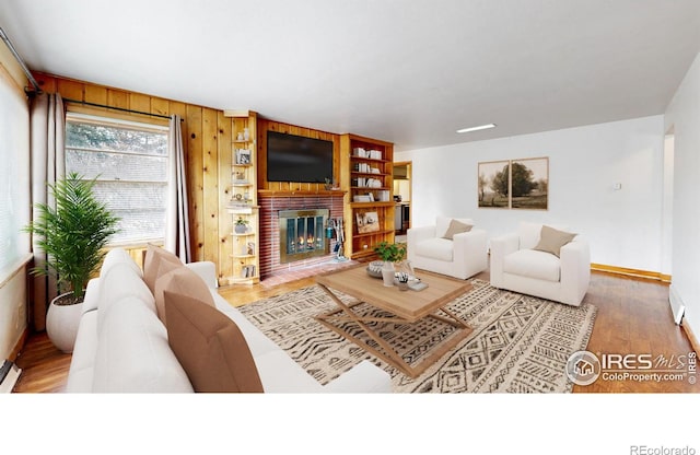
<svg viewBox="0 0 700 455"><path fill-rule="evenodd" d="M698 0L2 0L0 26L33 70L397 150L663 114L700 51Z"/></svg>

